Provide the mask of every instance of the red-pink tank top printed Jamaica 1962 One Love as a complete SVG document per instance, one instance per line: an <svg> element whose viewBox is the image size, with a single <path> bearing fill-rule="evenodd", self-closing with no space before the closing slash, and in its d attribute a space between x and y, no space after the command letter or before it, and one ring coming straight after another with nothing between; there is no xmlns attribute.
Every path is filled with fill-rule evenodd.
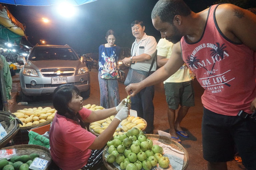
<svg viewBox="0 0 256 170"><path fill-rule="evenodd" d="M254 51L243 43L229 40L215 19L217 5L210 7L200 40L181 39L182 57L205 89L202 103L212 112L236 116L247 113L256 97Z"/></svg>

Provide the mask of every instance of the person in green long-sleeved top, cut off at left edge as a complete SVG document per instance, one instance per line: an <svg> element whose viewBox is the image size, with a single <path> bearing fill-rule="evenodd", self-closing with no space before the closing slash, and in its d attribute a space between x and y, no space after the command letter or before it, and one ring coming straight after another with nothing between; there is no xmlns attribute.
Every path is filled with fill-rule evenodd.
<svg viewBox="0 0 256 170"><path fill-rule="evenodd" d="M12 90L12 76L9 69L9 65L3 55L1 55L0 68L3 68L3 71L4 71L6 97L7 97L7 100L10 100L11 90ZM1 90L0 90L0 110L3 110L3 100L2 100Z"/></svg>

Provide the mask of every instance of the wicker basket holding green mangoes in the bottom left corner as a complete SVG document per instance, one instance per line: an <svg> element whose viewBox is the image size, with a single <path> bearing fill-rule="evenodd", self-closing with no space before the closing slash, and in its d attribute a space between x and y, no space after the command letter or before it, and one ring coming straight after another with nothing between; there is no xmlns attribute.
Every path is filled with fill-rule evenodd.
<svg viewBox="0 0 256 170"><path fill-rule="evenodd" d="M49 161L49 165L52 162L52 157L50 154L50 150L44 146L40 145L15 145L15 146L9 146L9 147L4 147L2 149L17 149L17 154L19 156L21 155L30 155L31 153L38 153L39 158L44 159ZM45 155L45 156L43 156ZM46 168L46 170L49 169L49 166Z"/></svg>

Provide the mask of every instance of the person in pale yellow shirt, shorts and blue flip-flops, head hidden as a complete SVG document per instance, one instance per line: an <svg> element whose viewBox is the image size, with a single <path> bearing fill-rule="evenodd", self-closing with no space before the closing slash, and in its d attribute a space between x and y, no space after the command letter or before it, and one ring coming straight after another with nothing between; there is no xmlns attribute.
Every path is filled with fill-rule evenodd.
<svg viewBox="0 0 256 170"><path fill-rule="evenodd" d="M170 58L172 53L173 43L166 39L160 39L157 44L157 65L162 67ZM171 77L164 81L164 89L166 101L168 104L168 121L170 125L169 133L172 139L181 142L178 135L188 137L188 134L180 127L182 119L186 116L188 109L195 106L194 88L192 78L189 74L189 69L186 64ZM175 111L181 106L177 119L175 121Z"/></svg>

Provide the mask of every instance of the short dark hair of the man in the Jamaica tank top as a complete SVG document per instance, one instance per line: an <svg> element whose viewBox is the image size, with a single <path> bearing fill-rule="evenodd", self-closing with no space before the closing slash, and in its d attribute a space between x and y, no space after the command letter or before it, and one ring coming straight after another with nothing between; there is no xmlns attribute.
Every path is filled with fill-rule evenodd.
<svg viewBox="0 0 256 170"><path fill-rule="evenodd" d="M157 16L162 22L173 24L175 15L188 16L191 14L191 9L183 0L159 0L151 13L151 19Z"/></svg>

